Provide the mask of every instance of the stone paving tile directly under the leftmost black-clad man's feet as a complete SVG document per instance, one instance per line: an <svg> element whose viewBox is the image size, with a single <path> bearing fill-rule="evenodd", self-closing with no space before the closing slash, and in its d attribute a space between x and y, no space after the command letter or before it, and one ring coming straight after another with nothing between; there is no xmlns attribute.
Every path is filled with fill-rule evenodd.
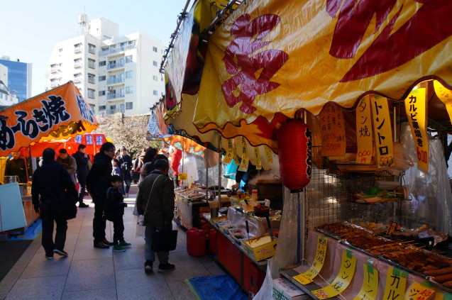
<svg viewBox="0 0 452 300"><path fill-rule="evenodd" d="M55 254L53 260L48 260L45 258L44 252L36 252L33 260L23 270L20 279L67 275L74 252L67 250L67 254L67 257Z"/></svg>

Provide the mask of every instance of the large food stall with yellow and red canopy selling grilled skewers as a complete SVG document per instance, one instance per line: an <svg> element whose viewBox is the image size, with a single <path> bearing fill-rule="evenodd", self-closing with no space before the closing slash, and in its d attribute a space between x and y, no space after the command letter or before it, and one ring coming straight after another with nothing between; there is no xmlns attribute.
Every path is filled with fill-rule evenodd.
<svg viewBox="0 0 452 300"><path fill-rule="evenodd" d="M322 233L321 226L372 222L387 232L394 222L400 235L421 233L424 225L431 235L452 235L443 152L451 132L452 93L451 30L443 21L452 4L342 2L243 1L228 6L227 18L212 22L199 39L207 41L207 49L199 89L191 96L183 93L187 76L178 76L181 64L175 67L180 60L174 56L183 55L173 51L168 58L173 64L165 66L168 87L172 84L177 99L169 107L185 109L187 100L194 113L186 118L195 132L243 136L250 145L268 145L279 153L279 130L288 119L301 119L311 128L309 163L298 169L309 169L310 182L302 192L285 191L282 238L255 299L270 299L272 279L280 276L318 299L334 293L341 299L364 299L363 268L368 274L379 272L379 288L369 299L403 298L418 290L424 293L419 299L447 298L448 284L424 272L431 270L404 267L385 253L373 255L366 246ZM288 177L296 177L299 160L291 162L293 167L286 169L285 162L284 169L292 172ZM319 243L324 235L328 237ZM417 240L386 239L399 250L407 245L404 256L421 252L434 261L424 267L447 270L444 264L451 265L446 251L440 257L426 254L431 253L424 249L429 244L421 248ZM321 248L324 240L326 249ZM441 243L448 248L450 240ZM321 266L314 261L316 247L323 253ZM355 261L353 270L347 260ZM314 264L321 268L312 270ZM294 279L306 277L305 272L318 288ZM334 280L339 275L348 277L348 284ZM391 284L395 278L404 282L397 291ZM419 282L427 288L419 288Z"/></svg>

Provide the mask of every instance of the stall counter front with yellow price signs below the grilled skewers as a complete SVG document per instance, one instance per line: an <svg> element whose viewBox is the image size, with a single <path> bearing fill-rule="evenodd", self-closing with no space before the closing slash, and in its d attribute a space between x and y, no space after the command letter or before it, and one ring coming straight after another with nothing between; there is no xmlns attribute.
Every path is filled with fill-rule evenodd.
<svg viewBox="0 0 452 300"><path fill-rule="evenodd" d="M309 231L304 263L281 274L314 299L407 299L412 292L423 298L410 299L451 296L431 277L314 230Z"/></svg>

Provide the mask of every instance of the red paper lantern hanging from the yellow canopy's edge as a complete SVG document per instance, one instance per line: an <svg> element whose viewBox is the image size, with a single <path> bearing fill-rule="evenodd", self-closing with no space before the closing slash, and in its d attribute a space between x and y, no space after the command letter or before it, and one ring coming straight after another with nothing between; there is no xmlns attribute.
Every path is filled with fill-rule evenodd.
<svg viewBox="0 0 452 300"><path fill-rule="evenodd" d="M282 184L297 193L311 181L312 132L299 119L290 119L277 131Z"/></svg>

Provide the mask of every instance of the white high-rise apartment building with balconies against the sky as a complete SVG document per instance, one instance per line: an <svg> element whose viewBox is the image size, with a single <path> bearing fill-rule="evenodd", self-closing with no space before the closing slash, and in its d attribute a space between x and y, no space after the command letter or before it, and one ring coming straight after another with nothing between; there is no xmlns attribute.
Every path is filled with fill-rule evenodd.
<svg viewBox="0 0 452 300"><path fill-rule="evenodd" d="M165 93L159 72L164 45L143 33L118 37L118 24L79 15L83 34L55 45L48 89L75 82L94 113L150 113Z"/></svg>

